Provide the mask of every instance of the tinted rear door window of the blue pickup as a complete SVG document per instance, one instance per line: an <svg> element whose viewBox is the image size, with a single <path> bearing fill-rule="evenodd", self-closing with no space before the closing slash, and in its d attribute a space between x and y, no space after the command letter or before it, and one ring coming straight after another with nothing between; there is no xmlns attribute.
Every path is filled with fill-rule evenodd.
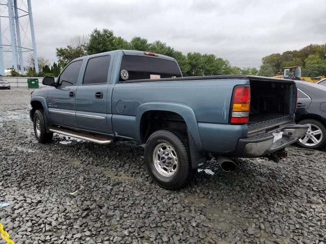
<svg viewBox="0 0 326 244"><path fill-rule="evenodd" d="M93 57L88 60L83 84L106 83L110 56Z"/></svg>

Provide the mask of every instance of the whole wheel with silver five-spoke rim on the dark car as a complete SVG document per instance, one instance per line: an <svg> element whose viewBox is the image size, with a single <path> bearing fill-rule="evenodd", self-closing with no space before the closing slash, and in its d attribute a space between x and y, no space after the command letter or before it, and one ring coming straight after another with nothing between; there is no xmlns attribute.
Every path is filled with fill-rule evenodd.
<svg viewBox="0 0 326 244"><path fill-rule="evenodd" d="M304 137L298 140L297 144L304 148L317 149L326 144L326 128L315 119L304 119L297 124L307 125L308 131Z"/></svg>

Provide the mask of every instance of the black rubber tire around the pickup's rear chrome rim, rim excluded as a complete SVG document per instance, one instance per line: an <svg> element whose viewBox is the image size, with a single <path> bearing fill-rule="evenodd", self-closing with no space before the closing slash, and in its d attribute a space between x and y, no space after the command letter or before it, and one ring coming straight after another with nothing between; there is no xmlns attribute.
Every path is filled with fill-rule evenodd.
<svg viewBox="0 0 326 244"><path fill-rule="evenodd" d="M164 159L161 158L161 160L157 160L158 162L156 166L154 163L154 150L156 147L164 143L172 146L172 151L174 151L177 157L177 167L173 175L164 175L164 173L160 172L163 171L162 169L160 169L160 171L157 169L157 167L159 167L157 164L164 164ZM159 156L158 154L156 156L165 157L164 155ZM168 160L169 156L167 156L165 166L169 164ZM148 173L153 178L153 180L157 182L159 186L171 190L178 190L184 187L187 182L192 179L194 173L194 170L191 166L189 146L186 137L183 133L174 130L160 130L154 132L149 136L145 147L145 164ZM164 168L164 165L162 166ZM169 170L167 170L166 174L170 174L168 171Z"/></svg>

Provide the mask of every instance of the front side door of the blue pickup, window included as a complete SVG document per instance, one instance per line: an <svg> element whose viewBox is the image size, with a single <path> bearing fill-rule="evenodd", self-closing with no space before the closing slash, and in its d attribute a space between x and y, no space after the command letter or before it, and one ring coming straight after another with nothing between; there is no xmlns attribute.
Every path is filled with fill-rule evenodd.
<svg viewBox="0 0 326 244"><path fill-rule="evenodd" d="M58 78L58 85L49 89L47 106L50 121L54 125L77 127L76 89L83 59L70 63Z"/></svg>

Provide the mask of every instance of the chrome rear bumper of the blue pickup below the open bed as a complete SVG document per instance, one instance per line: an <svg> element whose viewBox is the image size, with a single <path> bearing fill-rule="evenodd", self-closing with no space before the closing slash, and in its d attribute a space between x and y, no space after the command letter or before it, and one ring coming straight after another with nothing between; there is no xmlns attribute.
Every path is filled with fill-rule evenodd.
<svg viewBox="0 0 326 244"><path fill-rule="evenodd" d="M290 124L268 133L239 139L236 156L250 158L274 153L303 137L307 129L308 126L305 125ZM281 137L276 140L277 134Z"/></svg>

